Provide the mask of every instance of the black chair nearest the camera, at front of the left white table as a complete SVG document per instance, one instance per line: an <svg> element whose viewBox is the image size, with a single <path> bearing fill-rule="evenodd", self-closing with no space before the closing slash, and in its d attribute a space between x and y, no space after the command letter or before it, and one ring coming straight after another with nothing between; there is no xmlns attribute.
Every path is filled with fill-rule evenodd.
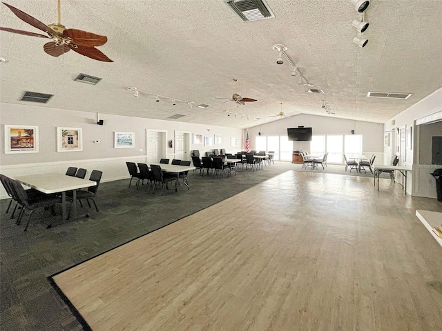
<svg viewBox="0 0 442 331"><path fill-rule="evenodd" d="M7 179L7 181L10 185L11 190L13 191L13 196L15 197L15 199L17 199L17 203L21 205L21 211L19 213L19 217L17 218L17 225L20 224L26 210L30 210L28 222L26 223L24 231L28 230L28 225L32 217L32 212L39 208L50 207L52 205L55 205L56 203L61 202L58 197L52 194L49 194L47 197L41 195L38 198L30 199L26 190L23 188L23 186L21 186L18 181L15 181L13 179Z"/></svg>

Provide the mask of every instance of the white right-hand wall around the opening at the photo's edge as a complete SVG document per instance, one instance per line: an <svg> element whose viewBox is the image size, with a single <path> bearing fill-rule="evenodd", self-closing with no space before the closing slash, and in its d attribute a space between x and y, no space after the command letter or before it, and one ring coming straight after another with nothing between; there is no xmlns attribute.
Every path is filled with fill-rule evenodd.
<svg viewBox="0 0 442 331"><path fill-rule="evenodd" d="M430 159L425 154L431 152L433 136L442 136L440 123L423 124L415 126L415 121L431 114L442 111L442 88L436 90L407 110L401 112L385 123L385 131L396 130L404 126L413 127L413 150L407 150L406 166L412 167L412 172L407 178L408 189L412 195L419 197L436 198L436 184L430 175L436 168L442 168L441 165L432 165ZM385 154L390 154L390 148L385 148ZM410 153L409 153L410 152ZM410 172L409 172L410 173ZM401 176L396 176L401 181Z"/></svg>

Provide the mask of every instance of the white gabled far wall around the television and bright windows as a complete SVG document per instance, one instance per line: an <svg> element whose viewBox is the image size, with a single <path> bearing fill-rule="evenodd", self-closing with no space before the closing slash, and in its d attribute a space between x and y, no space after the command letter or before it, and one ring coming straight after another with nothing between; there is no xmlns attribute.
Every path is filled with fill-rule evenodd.
<svg viewBox="0 0 442 331"><path fill-rule="evenodd" d="M251 149L255 149L255 140L258 132L262 135L287 135L287 128L298 128L305 126L312 128L313 134L355 134L363 135L363 154L371 157L376 155L375 164L383 164L383 132L382 123L372 123L365 121L354 121L350 119L338 119L336 117L316 116L309 114L299 114L287 119L280 119L261 126L249 128L249 139ZM294 142L294 150L310 150L308 141Z"/></svg>

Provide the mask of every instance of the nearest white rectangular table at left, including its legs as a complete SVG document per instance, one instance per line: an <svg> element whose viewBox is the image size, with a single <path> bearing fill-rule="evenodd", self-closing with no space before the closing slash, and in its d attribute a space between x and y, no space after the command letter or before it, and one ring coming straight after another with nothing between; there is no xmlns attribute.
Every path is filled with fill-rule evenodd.
<svg viewBox="0 0 442 331"><path fill-rule="evenodd" d="M95 181L81 179L66 174L29 174L26 176L14 177L19 183L29 186L45 194L61 192L61 219L66 219L66 191L73 191L73 219L77 218L77 192L80 188L95 186ZM50 228L51 224L48 225Z"/></svg>

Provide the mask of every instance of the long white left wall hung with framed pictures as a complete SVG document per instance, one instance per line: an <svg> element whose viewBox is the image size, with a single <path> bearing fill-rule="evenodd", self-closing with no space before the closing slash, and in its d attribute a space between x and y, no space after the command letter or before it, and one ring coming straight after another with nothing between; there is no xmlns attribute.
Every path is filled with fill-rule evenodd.
<svg viewBox="0 0 442 331"><path fill-rule="evenodd" d="M128 178L126 161L146 162L146 129L167 131L167 140L174 139L174 132L186 131L204 136L222 135L222 143L211 147L193 145L190 150L200 153L213 148L225 148L227 152L241 150L242 130L220 126L204 126L178 121L162 121L111 114L99 114L103 126L97 125L95 112L77 112L45 108L41 106L0 103L0 172L14 177L23 174L43 172L66 172L69 165L77 168L102 170L102 181ZM4 125L23 125L39 127L39 152L26 154L5 154ZM79 152L57 152L57 127L82 128L83 150ZM211 130L211 131L208 131ZM114 148L114 132L135 132L135 148ZM232 148L231 137L237 137L239 146ZM100 141L94 143L94 141ZM175 144L174 144L175 145ZM174 148L167 148L167 157L174 157ZM0 197L6 192L0 189Z"/></svg>

